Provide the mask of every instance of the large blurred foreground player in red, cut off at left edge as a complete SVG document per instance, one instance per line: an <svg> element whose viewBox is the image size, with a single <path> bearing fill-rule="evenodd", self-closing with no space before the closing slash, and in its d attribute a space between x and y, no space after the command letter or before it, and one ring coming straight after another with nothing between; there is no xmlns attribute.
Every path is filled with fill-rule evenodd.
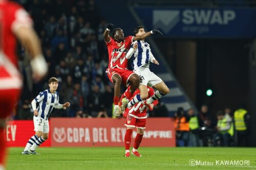
<svg viewBox="0 0 256 170"><path fill-rule="evenodd" d="M34 79L47 73L48 66L41 55L39 39L32 27L32 19L19 5L0 0L0 170L5 166L6 143L4 128L22 89L22 76L17 68L16 38L31 54Z"/></svg>

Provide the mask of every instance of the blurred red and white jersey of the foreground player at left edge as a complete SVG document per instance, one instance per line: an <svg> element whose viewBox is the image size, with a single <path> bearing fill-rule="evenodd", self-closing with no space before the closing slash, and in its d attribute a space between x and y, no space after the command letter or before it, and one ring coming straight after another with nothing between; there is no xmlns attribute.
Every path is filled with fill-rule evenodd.
<svg viewBox="0 0 256 170"><path fill-rule="evenodd" d="M20 89L22 79L17 69L15 31L32 28L32 19L19 5L0 0L0 89Z"/></svg>

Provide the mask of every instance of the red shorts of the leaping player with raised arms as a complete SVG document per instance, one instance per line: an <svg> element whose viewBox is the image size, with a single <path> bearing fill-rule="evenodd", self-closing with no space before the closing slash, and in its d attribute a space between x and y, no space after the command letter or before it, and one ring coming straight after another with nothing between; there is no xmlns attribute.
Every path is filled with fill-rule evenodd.
<svg viewBox="0 0 256 170"><path fill-rule="evenodd" d="M110 68L108 70L108 77L112 83L113 83L112 77L115 74L118 74L122 78L122 83L126 86L129 78L132 76L132 74L135 74L135 72L128 69Z"/></svg>

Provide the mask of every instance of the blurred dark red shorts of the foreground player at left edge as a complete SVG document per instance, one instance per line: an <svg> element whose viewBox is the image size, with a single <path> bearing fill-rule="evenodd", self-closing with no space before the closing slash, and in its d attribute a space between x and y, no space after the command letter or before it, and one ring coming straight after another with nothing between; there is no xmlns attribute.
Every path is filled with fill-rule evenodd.
<svg viewBox="0 0 256 170"><path fill-rule="evenodd" d="M19 93L19 89L0 90L0 118L6 118L11 114Z"/></svg>

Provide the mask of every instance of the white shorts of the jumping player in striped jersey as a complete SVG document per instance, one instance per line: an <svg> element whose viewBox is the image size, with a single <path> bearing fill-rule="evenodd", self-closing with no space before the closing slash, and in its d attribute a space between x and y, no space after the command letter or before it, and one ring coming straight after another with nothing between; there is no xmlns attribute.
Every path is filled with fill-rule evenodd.
<svg viewBox="0 0 256 170"><path fill-rule="evenodd" d="M148 67L139 67L134 72L140 76L140 84L154 86L162 82L162 79L154 74ZM147 84L148 83L148 84Z"/></svg>

